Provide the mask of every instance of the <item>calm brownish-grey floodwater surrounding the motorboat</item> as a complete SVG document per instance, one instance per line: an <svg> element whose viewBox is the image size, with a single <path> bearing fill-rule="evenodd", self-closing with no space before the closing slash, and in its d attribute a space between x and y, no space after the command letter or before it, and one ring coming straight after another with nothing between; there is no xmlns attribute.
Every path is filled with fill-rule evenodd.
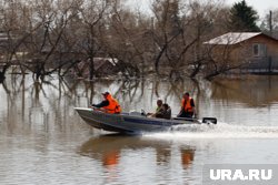
<svg viewBox="0 0 278 185"><path fill-rule="evenodd" d="M123 111L179 111L189 91L216 126L179 126L125 136L97 131L75 112L117 96ZM8 75L0 86L0 184L202 184L205 164L278 164L278 76L216 82L96 80Z"/></svg>

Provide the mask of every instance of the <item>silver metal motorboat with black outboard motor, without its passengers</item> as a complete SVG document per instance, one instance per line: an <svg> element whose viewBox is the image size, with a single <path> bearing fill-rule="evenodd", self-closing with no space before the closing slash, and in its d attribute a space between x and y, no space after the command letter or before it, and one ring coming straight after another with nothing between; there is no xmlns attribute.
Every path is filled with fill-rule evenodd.
<svg viewBox="0 0 278 185"><path fill-rule="evenodd" d="M131 111L129 113L110 114L93 107L75 107L81 119L95 129L109 132L138 134L145 132L169 131L176 125L183 124L217 124L216 117L170 120L146 116L146 113Z"/></svg>

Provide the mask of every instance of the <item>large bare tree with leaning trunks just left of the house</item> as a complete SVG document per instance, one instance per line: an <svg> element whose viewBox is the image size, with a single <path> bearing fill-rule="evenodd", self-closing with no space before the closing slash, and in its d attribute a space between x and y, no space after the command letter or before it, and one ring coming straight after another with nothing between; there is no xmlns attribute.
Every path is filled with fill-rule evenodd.
<svg viewBox="0 0 278 185"><path fill-rule="evenodd" d="M195 78L205 63L202 42L212 33L212 21L221 6L218 1L156 0L153 42L158 50L155 68L165 63L170 76Z"/></svg>

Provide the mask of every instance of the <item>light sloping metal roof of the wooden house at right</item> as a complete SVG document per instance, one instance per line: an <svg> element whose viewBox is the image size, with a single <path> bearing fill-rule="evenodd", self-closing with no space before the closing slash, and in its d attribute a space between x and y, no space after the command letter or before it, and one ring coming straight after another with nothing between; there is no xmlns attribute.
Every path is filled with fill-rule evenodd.
<svg viewBox="0 0 278 185"><path fill-rule="evenodd" d="M226 34L222 34L220 37L217 37L215 39L211 39L207 42L203 42L205 44L222 44L222 45L232 45L240 43L242 41L246 41L248 39L251 39L254 37L257 37L259 34L264 34L261 32L229 32ZM266 35L266 34L264 34ZM268 35L266 35L268 37ZM274 39L274 38L272 38Z"/></svg>

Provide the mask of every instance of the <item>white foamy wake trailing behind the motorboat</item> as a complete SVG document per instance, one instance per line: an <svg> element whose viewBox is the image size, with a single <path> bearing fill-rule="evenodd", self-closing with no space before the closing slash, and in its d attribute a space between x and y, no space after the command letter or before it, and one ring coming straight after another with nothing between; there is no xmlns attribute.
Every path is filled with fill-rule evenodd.
<svg viewBox="0 0 278 185"><path fill-rule="evenodd" d="M278 126L179 125L165 133L145 134L166 138L278 138Z"/></svg>

